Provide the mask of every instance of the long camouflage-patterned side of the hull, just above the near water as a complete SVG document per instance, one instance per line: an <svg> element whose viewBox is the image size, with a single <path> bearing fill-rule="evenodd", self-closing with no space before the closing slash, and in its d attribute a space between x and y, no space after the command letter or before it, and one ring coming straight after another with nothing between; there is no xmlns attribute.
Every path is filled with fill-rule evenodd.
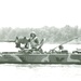
<svg viewBox="0 0 81 81"><path fill-rule="evenodd" d="M81 64L81 54L0 54L8 64Z"/></svg>

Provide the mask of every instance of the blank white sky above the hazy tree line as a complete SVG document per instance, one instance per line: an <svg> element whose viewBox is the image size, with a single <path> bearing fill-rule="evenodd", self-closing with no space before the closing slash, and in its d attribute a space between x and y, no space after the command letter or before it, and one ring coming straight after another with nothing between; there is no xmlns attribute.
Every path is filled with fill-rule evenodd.
<svg viewBox="0 0 81 81"><path fill-rule="evenodd" d="M0 27L81 27L81 0L0 0Z"/></svg>

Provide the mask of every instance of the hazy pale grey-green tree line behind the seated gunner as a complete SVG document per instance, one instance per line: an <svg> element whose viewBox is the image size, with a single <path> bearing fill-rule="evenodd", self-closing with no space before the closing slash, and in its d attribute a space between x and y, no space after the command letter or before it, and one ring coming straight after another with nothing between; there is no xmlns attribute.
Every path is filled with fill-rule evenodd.
<svg viewBox="0 0 81 81"><path fill-rule="evenodd" d="M31 31L36 31L39 39L44 38L45 42L49 43L60 43L65 42L69 39L78 37L81 35L81 29L78 29L78 26L70 27L66 25L63 28L56 27L42 27L42 28L11 28L11 27L2 27L0 28L0 40L11 40L17 37L27 37ZM81 40L81 37L79 38Z"/></svg>

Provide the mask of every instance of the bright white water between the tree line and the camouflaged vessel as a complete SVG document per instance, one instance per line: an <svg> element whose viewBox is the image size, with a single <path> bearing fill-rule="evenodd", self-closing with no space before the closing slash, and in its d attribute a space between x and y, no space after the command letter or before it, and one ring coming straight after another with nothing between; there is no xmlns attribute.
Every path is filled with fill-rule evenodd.
<svg viewBox="0 0 81 81"><path fill-rule="evenodd" d="M43 51L49 52L50 50L58 46L59 44L43 44ZM68 50L69 52L76 51L77 49L81 49L81 44L64 44L64 50ZM19 49L15 48L15 43L12 42L0 42L0 52L17 52ZM58 49L56 49L58 50Z"/></svg>

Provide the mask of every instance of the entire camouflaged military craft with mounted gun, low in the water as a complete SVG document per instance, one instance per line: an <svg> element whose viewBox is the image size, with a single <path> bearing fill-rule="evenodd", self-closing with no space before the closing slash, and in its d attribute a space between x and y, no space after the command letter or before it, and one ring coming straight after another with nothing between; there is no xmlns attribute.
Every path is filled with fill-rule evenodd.
<svg viewBox="0 0 81 81"><path fill-rule="evenodd" d="M17 38L18 39L18 38ZM78 39L78 38L73 38ZM15 41L2 41L2 42L15 42L16 48L19 48L18 52L1 52L0 53L0 64L81 64L81 51L73 51L68 53L67 50L64 50L63 44L73 40L70 39L56 48L59 51L55 51L56 48L50 50L49 52L43 52L41 46L43 45L44 40L42 39L38 49L28 49L26 38L18 39ZM24 48L19 46L21 44Z"/></svg>

